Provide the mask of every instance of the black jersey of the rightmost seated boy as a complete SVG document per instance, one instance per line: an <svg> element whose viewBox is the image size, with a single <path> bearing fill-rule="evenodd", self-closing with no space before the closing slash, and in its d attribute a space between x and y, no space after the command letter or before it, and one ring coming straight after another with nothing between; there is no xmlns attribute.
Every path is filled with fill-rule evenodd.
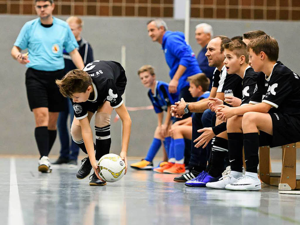
<svg viewBox="0 0 300 225"><path fill-rule="evenodd" d="M273 106L271 113L280 112L300 118L299 79L298 74L278 61L269 77L259 73L250 103L264 102Z"/></svg>

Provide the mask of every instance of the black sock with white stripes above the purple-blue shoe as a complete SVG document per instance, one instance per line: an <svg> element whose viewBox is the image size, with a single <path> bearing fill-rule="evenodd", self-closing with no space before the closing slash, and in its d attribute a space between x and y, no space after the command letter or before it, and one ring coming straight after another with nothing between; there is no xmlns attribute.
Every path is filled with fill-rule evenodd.
<svg viewBox="0 0 300 225"><path fill-rule="evenodd" d="M211 151L211 167L208 174L212 177L219 177L224 171L224 158L228 156L228 141L224 138L216 137Z"/></svg>

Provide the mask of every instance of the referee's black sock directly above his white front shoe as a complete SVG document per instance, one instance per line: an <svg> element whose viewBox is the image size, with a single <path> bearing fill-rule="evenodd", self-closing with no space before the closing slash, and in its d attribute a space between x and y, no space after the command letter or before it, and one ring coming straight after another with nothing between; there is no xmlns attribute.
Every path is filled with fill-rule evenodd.
<svg viewBox="0 0 300 225"><path fill-rule="evenodd" d="M38 145L38 151L41 157L48 156L49 152L49 133L46 126L39 126L35 128L35 141Z"/></svg>

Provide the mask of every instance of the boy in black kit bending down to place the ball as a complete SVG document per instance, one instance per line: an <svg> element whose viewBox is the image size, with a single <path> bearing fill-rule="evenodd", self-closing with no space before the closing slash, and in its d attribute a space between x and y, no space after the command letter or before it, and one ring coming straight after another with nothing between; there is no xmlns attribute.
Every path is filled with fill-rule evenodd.
<svg viewBox="0 0 300 225"><path fill-rule="evenodd" d="M131 119L121 97L126 83L125 70L120 63L100 60L89 63L83 70L71 70L62 80L56 80L60 92L72 100L74 120L71 126L71 135L73 141L85 154L88 154L88 158L82 160L85 162L76 177L78 179L85 178L93 168L94 173L91 175L90 185L106 185L106 182L98 174L97 161L110 152L110 115L113 109L116 109L122 120L120 157L125 162L125 174L127 172L126 155ZM96 146L93 143L90 126L91 117L95 112Z"/></svg>

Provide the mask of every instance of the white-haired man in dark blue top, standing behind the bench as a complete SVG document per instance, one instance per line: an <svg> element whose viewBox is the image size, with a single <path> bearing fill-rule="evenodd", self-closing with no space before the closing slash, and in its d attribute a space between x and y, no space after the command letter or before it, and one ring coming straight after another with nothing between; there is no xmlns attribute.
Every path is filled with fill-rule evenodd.
<svg viewBox="0 0 300 225"><path fill-rule="evenodd" d="M209 90L211 90L215 67L208 66L208 59L205 56L205 53L206 46L211 40L211 37L213 37L212 27L207 23L199 23L195 29L195 39L197 43L202 47L202 49L198 53L197 61L202 72L205 73L206 77L208 77L210 80Z"/></svg>

